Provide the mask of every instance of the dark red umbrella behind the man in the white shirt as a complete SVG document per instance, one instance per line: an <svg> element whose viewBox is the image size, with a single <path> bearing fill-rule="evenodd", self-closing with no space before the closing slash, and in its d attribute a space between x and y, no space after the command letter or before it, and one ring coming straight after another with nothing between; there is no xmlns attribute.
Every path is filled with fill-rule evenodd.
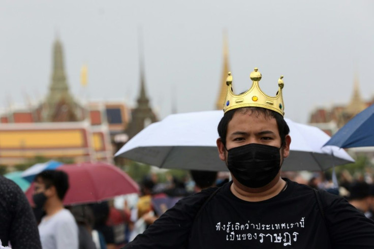
<svg viewBox="0 0 374 249"><path fill-rule="evenodd" d="M118 195L138 193L138 184L117 167L106 163L81 163L63 165L56 170L69 175L70 188L64 204L82 204L106 200ZM34 184L26 191L32 203Z"/></svg>

